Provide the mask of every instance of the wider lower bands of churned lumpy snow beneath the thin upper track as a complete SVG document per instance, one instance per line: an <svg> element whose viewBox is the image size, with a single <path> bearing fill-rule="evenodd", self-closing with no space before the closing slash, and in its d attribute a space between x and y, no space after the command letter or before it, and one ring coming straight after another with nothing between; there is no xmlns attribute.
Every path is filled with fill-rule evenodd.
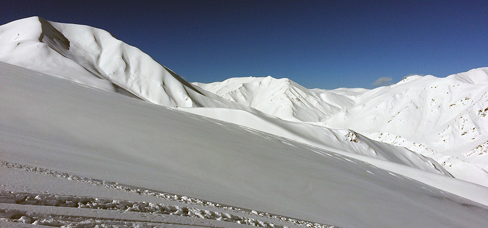
<svg viewBox="0 0 488 228"><path fill-rule="evenodd" d="M162 215L176 215L183 217L196 217L206 220L217 220L226 222L235 222L238 224L248 224L261 227L277 227L283 228L282 225L269 223L266 221L256 220L254 218L247 218L237 216L229 213L222 213L218 211L210 211L198 209L193 207L181 207L165 204L147 203L147 202L133 202L124 200L112 200L104 198L92 197L73 197L73 196L59 196L58 194L36 194L36 193L17 193L17 192L1 192L2 203L21 204L21 205L41 205L67 208L89 208L99 210L115 210L115 211L130 211L138 213L162 214ZM182 197L182 201L188 201L187 197ZM29 208L25 206L16 206L16 208ZM48 226L94 226L94 225L123 225L123 227L141 226L141 222L135 221L100 221L100 219L89 218L88 216L80 216L84 218L66 218L64 216L52 216L44 213L33 213L32 208L28 211L7 209L0 213L9 217L20 217L18 219L3 219L6 221L14 221L21 223L32 223L36 225ZM258 212L251 213L259 215ZM81 220L81 221L80 221ZM1 221L1 220L0 220ZM154 220L152 221L154 222ZM313 224L311 224L313 225Z"/></svg>

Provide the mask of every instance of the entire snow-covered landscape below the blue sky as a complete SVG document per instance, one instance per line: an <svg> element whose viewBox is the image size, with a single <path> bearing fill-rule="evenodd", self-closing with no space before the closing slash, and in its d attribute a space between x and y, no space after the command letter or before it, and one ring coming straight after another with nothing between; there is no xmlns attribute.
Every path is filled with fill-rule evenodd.
<svg viewBox="0 0 488 228"><path fill-rule="evenodd" d="M14 21L0 226L488 227L487 72L189 83L102 29Z"/></svg>

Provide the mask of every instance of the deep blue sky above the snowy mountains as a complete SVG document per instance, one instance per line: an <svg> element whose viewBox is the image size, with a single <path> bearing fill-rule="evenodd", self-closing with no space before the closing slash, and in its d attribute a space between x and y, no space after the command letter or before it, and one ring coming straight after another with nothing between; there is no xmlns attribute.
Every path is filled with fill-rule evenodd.
<svg viewBox="0 0 488 228"><path fill-rule="evenodd" d="M270 75L373 88L488 67L486 0L77 2L3 1L0 24L41 16L102 28L192 82Z"/></svg>

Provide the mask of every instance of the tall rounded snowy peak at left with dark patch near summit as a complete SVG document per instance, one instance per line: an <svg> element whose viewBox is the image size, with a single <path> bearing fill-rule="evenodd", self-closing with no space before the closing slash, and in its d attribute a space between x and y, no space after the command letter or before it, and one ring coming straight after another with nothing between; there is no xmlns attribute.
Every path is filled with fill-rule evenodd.
<svg viewBox="0 0 488 228"><path fill-rule="evenodd" d="M109 32L30 17L0 27L0 61L169 107L255 111L195 87Z"/></svg>

